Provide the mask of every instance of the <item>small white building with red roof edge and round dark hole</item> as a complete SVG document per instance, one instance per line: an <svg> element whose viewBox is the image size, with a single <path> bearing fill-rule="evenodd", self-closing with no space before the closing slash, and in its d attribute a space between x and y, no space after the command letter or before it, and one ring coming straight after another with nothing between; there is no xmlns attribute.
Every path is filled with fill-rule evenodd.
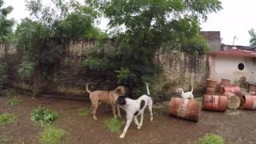
<svg viewBox="0 0 256 144"><path fill-rule="evenodd" d="M256 51L241 50L233 47L230 50L212 51L209 53L210 78L221 81L222 78L234 82L255 82Z"/></svg>

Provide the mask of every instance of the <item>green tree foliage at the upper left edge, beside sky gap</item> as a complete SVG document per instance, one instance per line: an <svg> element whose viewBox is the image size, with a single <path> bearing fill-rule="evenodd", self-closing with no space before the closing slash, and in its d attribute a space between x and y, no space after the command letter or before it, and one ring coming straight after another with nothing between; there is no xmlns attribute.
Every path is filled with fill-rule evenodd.
<svg viewBox="0 0 256 144"><path fill-rule="evenodd" d="M0 42L6 42L12 36L14 19L8 19L7 15L13 10L12 6L2 8L4 2L0 0Z"/></svg>

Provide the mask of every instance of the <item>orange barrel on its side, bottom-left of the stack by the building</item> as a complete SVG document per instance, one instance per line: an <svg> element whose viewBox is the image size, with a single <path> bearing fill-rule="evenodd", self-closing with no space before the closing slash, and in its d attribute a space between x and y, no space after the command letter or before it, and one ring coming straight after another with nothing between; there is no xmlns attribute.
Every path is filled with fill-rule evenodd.
<svg viewBox="0 0 256 144"><path fill-rule="evenodd" d="M207 95L203 96L203 109L214 110L214 111L225 111L227 108L226 96L219 95Z"/></svg>

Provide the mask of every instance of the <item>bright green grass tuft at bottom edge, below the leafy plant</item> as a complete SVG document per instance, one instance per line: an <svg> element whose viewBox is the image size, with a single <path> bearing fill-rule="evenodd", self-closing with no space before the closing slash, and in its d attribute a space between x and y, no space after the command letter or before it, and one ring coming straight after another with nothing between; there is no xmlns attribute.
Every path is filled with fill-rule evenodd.
<svg viewBox="0 0 256 144"><path fill-rule="evenodd" d="M62 143L65 133L65 130L49 126L46 127L45 130L39 134L38 141L42 144Z"/></svg>

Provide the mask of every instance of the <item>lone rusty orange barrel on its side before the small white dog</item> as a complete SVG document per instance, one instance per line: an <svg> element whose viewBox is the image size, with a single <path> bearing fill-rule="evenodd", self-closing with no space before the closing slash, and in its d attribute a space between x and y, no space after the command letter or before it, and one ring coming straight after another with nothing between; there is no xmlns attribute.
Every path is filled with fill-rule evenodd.
<svg viewBox="0 0 256 144"><path fill-rule="evenodd" d="M170 99L169 114L174 117L198 122L201 106L201 102L197 102L193 99L173 97Z"/></svg>

